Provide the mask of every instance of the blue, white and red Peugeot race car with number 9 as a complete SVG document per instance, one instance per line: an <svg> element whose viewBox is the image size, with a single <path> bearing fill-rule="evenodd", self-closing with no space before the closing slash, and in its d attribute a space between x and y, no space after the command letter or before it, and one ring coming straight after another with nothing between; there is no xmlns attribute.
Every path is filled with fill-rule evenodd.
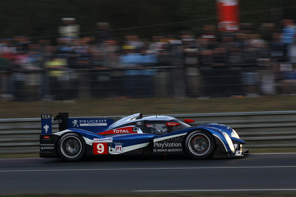
<svg viewBox="0 0 296 197"><path fill-rule="evenodd" d="M40 157L73 162L87 155L186 154L192 159L242 157L245 142L229 126L195 125L166 115L121 118L69 118L68 113L41 115ZM59 132L52 133L52 125Z"/></svg>

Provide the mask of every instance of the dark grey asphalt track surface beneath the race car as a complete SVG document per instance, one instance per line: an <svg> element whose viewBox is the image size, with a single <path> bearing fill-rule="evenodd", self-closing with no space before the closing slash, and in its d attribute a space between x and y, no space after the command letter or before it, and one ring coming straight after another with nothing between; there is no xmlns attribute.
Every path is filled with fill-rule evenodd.
<svg viewBox="0 0 296 197"><path fill-rule="evenodd" d="M296 153L0 159L0 194L296 191Z"/></svg>

